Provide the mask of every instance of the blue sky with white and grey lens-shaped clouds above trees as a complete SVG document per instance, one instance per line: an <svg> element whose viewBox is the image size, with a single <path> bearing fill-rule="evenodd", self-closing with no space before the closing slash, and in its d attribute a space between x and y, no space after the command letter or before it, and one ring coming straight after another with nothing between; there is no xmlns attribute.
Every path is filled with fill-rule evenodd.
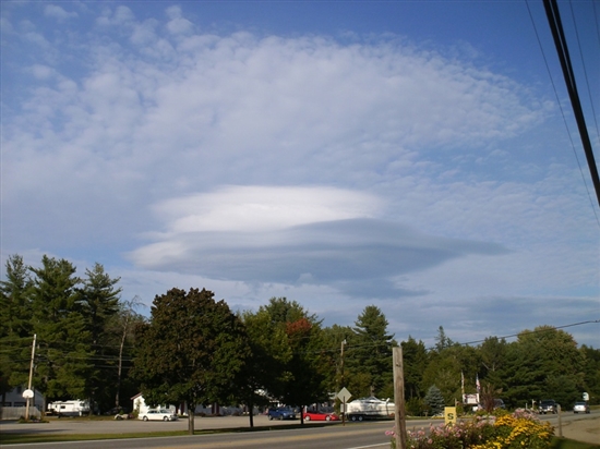
<svg viewBox="0 0 600 449"><path fill-rule="evenodd" d="M560 1L600 148L600 5ZM1 262L600 348L600 210L540 1L2 1ZM149 314L149 307L140 310ZM596 323L589 323L596 321Z"/></svg>

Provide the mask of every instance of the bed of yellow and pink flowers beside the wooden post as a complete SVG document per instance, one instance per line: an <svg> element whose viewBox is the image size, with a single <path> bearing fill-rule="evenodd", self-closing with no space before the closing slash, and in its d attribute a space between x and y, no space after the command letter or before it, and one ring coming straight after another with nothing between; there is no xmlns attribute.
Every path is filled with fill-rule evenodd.
<svg viewBox="0 0 600 449"><path fill-rule="evenodd" d="M456 424L431 425L425 429L407 433L410 449L545 449L550 448L554 428L542 423L537 414L527 410L515 413L497 411L494 415L479 415ZM394 430L392 448L396 447Z"/></svg>

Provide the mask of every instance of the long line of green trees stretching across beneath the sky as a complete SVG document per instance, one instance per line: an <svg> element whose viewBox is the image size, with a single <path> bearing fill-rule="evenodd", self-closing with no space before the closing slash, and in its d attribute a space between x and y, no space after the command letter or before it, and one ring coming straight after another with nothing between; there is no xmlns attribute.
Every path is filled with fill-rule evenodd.
<svg viewBox="0 0 600 449"><path fill-rule="evenodd" d="M119 279L99 264L80 278L68 260L44 256L34 268L13 255L5 269L0 393L27 385L36 335L33 386L49 401L87 398L104 411L130 408L140 391L153 403L190 408L215 401L308 405L343 386L353 398L394 397L392 349L398 343L374 305L355 326L324 327L285 298L233 313L211 291L172 289L155 298L146 318L136 299L120 298ZM476 378L508 408L544 398L568 408L584 391L600 403L600 351L578 347L563 330L540 326L513 342L489 337L465 345L440 326L435 341L433 348L410 336L400 342L410 415L431 412L431 387L454 404L463 392L476 392Z"/></svg>

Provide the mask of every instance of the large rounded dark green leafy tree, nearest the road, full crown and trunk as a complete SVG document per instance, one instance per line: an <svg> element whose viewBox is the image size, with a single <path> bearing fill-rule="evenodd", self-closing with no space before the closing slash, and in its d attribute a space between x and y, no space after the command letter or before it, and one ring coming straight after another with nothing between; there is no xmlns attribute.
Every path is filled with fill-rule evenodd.
<svg viewBox="0 0 600 449"><path fill-rule="evenodd" d="M152 404L185 402L188 432L197 404L229 399L248 356L240 319L208 290L171 289L156 296L139 329L134 376Z"/></svg>

